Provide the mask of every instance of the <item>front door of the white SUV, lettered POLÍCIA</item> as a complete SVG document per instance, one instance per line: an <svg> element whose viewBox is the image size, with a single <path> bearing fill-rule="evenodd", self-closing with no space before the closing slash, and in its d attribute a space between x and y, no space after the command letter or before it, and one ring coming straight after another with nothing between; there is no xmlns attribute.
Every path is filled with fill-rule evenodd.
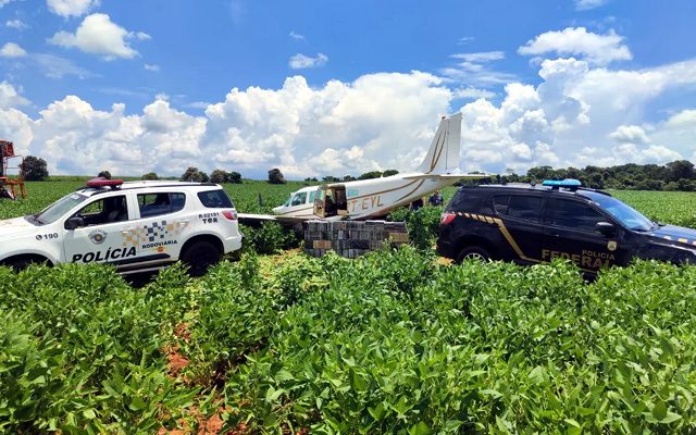
<svg viewBox="0 0 696 435"><path fill-rule="evenodd" d="M80 217L82 224L70 229L67 221ZM122 231L133 217L126 195L99 196L64 222L63 250L72 263L120 263L135 259L136 248L125 247Z"/></svg>

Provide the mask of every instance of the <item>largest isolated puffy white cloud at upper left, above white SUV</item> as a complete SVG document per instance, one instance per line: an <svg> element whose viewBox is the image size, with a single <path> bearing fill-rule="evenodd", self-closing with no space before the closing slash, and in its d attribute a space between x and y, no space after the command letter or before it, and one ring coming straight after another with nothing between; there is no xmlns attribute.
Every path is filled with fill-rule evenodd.
<svg viewBox="0 0 696 435"><path fill-rule="evenodd" d="M48 41L64 48L77 48L86 53L100 54L105 60L116 58L133 59L138 52L133 49L128 39L149 39L150 36L138 32L128 32L113 23L109 15L95 13L83 20L74 34L59 32Z"/></svg>

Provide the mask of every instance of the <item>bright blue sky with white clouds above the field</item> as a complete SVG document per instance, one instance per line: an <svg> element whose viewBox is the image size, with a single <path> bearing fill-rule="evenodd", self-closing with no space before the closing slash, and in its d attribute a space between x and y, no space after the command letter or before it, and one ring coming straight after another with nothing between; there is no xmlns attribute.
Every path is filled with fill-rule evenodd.
<svg viewBox="0 0 696 435"><path fill-rule="evenodd" d="M0 0L0 138L51 174L696 161L696 2Z"/></svg>

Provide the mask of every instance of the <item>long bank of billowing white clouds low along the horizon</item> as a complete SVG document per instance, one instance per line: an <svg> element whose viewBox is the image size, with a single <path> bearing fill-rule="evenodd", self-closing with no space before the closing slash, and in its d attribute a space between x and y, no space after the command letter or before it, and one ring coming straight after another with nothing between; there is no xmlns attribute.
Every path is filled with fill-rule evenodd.
<svg viewBox="0 0 696 435"><path fill-rule="evenodd" d="M691 89L696 61L611 70L570 58L538 69L538 84L509 83L495 100L423 72L312 87L294 76L279 88L233 88L216 101L191 103L196 115L165 96L128 112L66 96L32 119L21 110L21 89L3 83L0 134L46 158L51 172L72 174L179 175L190 165L251 177L271 167L290 178L405 172L422 160L439 117L458 109L462 171L666 163L695 153L696 108L657 122L647 122L645 111L666 91ZM460 103L467 95L476 99Z"/></svg>

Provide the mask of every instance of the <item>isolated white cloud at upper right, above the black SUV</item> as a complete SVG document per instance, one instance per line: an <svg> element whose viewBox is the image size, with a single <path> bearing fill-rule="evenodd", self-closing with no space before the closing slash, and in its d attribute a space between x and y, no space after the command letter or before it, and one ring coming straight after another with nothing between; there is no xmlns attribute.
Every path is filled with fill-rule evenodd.
<svg viewBox="0 0 696 435"><path fill-rule="evenodd" d="M609 30L607 35L598 35L587 32L585 27L567 27L560 32L544 33L520 47L518 53L524 55L570 54L602 65L612 61L633 59L631 50L623 44L623 37L613 30Z"/></svg>

